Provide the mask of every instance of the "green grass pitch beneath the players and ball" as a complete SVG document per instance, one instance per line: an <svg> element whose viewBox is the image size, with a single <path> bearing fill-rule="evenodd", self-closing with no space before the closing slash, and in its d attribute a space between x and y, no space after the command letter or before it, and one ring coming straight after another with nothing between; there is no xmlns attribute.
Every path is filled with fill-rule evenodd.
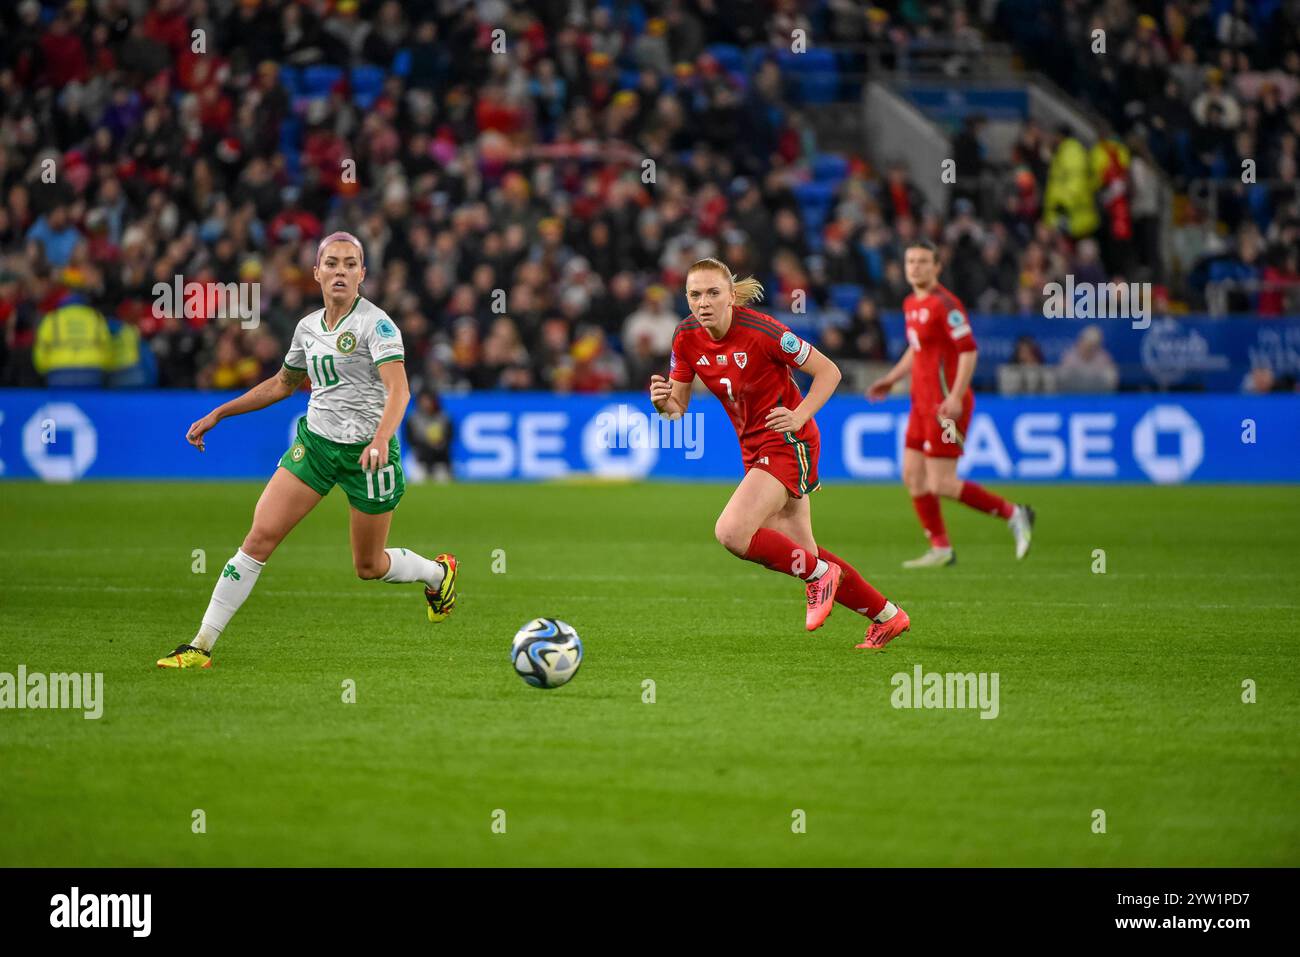
<svg viewBox="0 0 1300 957"><path fill-rule="evenodd" d="M0 486L0 671L105 689L99 720L0 711L0 865L1300 863L1296 489L993 488L1039 510L1028 559L946 503L927 572L900 488L814 495L913 616L883 654L714 542L731 486L412 486L390 544L462 562L439 625L354 576L335 492L216 666L169 672L259 486ZM586 649L552 692L507 661L537 615ZM918 663L998 672L998 716L894 709Z"/></svg>

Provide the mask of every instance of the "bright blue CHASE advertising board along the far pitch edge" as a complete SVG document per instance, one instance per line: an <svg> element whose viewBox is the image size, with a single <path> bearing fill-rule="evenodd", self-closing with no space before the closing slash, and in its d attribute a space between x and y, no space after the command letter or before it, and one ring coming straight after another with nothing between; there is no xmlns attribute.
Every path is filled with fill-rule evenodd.
<svg viewBox="0 0 1300 957"><path fill-rule="evenodd" d="M0 391L0 478L269 477L295 442L306 397L226 419L200 455L185 432L226 398ZM641 441L658 434L642 394L480 393L447 395L445 406L456 424L452 462L467 480L741 476L736 433L707 397L692 403L699 416L689 442ZM831 399L816 417L822 480L898 481L907 413L905 400ZM965 452L959 473L991 481L1297 482L1300 395L979 395Z"/></svg>

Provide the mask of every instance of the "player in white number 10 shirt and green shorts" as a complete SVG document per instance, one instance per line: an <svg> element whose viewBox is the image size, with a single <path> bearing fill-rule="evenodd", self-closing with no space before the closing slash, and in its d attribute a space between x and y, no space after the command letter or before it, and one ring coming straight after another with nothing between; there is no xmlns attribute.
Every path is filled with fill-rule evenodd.
<svg viewBox="0 0 1300 957"><path fill-rule="evenodd" d="M402 333L360 294L361 242L351 233L325 237L313 276L325 308L299 320L280 374L218 406L186 433L190 445L204 451L204 434L218 421L289 398L311 378L307 417L298 420L292 446L257 499L252 528L217 579L198 635L160 658L159 667L212 666L212 645L252 592L270 553L334 485L351 505L358 577L421 583L430 622L446 619L456 603L455 555L430 560L387 547L393 510L406 490L396 430L411 390Z"/></svg>

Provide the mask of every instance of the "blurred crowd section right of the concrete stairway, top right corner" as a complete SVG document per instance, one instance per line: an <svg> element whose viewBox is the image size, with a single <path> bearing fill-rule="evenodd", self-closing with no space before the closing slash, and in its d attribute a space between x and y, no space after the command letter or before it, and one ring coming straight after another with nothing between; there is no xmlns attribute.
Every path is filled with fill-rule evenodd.
<svg viewBox="0 0 1300 957"><path fill-rule="evenodd" d="M1001 0L997 21L1105 114L1117 166L1131 155L1173 177L1195 306L1300 309L1300 4Z"/></svg>

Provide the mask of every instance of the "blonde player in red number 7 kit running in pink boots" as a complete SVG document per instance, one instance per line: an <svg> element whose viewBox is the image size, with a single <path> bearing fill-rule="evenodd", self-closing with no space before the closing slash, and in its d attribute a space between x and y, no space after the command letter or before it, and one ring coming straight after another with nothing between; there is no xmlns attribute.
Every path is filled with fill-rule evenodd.
<svg viewBox="0 0 1300 957"><path fill-rule="evenodd" d="M650 400L660 415L679 416L699 376L727 410L745 464L745 477L714 528L719 544L801 579L810 632L822 627L838 601L871 619L858 648L884 648L907 631L907 612L812 537L807 493L820 488L822 445L812 415L840 384L840 369L771 316L748 308L762 294L757 280L736 280L716 259L692 265L690 317L673 333L670 377L650 380ZM790 369L812 376L807 397L800 394Z"/></svg>

